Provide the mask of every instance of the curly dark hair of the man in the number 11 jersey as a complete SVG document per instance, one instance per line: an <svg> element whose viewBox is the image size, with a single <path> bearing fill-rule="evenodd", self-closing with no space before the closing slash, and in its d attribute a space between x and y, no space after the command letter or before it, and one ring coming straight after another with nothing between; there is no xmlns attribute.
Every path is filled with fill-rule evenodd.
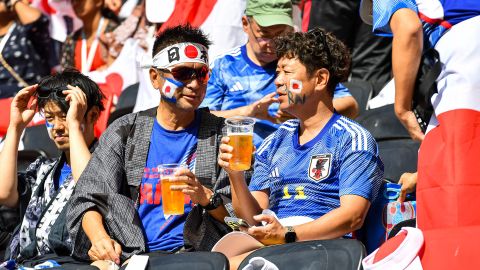
<svg viewBox="0 0 480 270"><path fill-rule="evenodd" d="M330 72L328 90L333 91L339 82L350 74L350 52L333 34L316 27L305 33L291 33L275 38L278 58L297 58L309 76L320 68Z"/></svg>

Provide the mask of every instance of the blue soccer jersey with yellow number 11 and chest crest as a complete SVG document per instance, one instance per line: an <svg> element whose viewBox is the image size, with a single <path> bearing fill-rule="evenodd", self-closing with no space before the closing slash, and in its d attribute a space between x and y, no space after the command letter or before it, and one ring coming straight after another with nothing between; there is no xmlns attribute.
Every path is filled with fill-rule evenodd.
<svg viewBox="0 0 480 270"><path fill-rule="evenodd" d="M340 206L343 195L372 202L382 183L377 143L354 121L335 113L304 145L298 120L289 120L257 150L251 191L268 190L279 218L317 219Z"/></svg>

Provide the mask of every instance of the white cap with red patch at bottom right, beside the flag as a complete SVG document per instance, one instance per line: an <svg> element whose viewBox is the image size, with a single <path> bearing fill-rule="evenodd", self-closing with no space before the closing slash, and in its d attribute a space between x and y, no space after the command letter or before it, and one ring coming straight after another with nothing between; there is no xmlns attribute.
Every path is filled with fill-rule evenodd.
<svg viewBox="0 0 480 270"><path fill-rule="evenodd" d="M389 255L374 263L375 255L387 242L362 260L364 270L423 270L418 253L423 246L423 233L412 227L403 227L398 234L405 239ZM397 234L397 235L398 235Z"/></svg>

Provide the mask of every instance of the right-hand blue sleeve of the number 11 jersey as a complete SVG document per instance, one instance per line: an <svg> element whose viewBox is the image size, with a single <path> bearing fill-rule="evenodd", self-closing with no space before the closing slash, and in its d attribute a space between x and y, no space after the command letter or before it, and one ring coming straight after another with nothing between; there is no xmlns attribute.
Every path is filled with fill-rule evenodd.
<svg viewBox="0 0 480 270"><path fill-rule="evenodd" d="M351 145L351 144L350 144ZM339 195L357 195L370 202L375 200L383 179L383 163L378 156L373 137L368 138L367 150L351 151L346 146L339 173Z"/></svg>

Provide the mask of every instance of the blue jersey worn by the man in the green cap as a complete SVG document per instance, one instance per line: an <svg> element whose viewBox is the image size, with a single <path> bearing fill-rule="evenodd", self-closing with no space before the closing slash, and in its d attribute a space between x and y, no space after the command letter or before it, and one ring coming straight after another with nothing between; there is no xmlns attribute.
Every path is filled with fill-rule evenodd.
<svg viewBox="0 0 480 270"><path fill-rule="evenodd" d="M274 84L277 63L259 66L247 56L246 45L237 47L217 58L210 66L207 94L201 107L212 111L225 111L243 107L276 91ZM338 84L334 98L351 96L348 89ZM268 111L275 115L278 103L270 105ZM279 125L258 120L255 123L254 143L259 147L263 139L277 130Z"/></svg>

